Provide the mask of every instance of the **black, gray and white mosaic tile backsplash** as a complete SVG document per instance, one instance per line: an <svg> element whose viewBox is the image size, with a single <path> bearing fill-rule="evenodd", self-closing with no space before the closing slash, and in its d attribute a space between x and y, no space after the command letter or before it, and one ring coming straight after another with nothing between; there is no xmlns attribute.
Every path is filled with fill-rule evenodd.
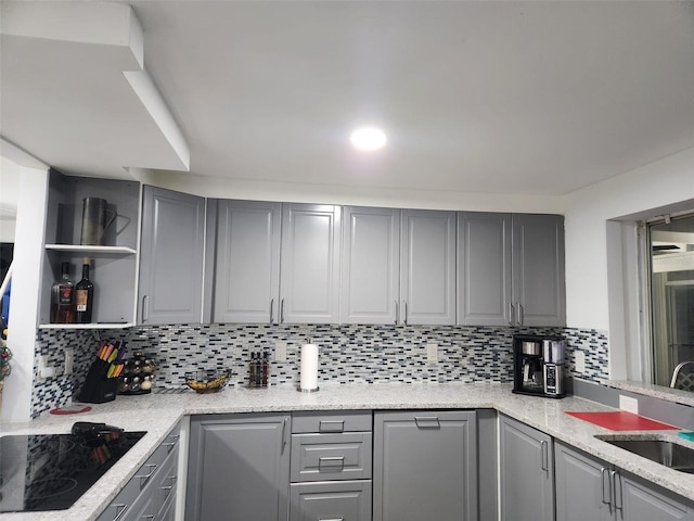
<svg viewBox="0 0 694 521"><path fill-rule="evenodd" d="M33 416L63 406L81 389L101 340L124 341L130 354L157 363L155 389L183 386L193 369L232 370L232 385L247 384L250 353L268 353L270 385L298 385L299 353L309 341L320 348L319 382L511 382L514 334L562 335L567 341L568 373L574 351L586 353L581 378L607 378L607 338L596 330L459 326L177 325L128 330L39 330L34 374ZM277 342L286 342L286 361L274 360ZM438 344L438 361L427 361L426 344ZM38 357L62 368L64 350L75 350L72 374L38 381ZM117 399L127 399L120 397Z"/></svg>

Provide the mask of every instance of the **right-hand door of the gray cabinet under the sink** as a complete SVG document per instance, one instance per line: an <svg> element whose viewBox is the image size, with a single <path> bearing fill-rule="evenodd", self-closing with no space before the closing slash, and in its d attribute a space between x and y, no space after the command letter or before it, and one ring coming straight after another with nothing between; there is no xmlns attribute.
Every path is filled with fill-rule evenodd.
<svg viewBox="0 0 694 521"><path fill-rule="evenodd" d="M621 482L620 487L617 484L618 490L615 498L617 506L622 508L621 518L618 518L620 521L684 521L691 519L687 517L687 506L683 500L667 494L667 491L660 493L656 491L654 485L621 473L617 475L617 479ZM621 505L619 505L620 500ZM692 507L690 506L690 508Z"/></svg>

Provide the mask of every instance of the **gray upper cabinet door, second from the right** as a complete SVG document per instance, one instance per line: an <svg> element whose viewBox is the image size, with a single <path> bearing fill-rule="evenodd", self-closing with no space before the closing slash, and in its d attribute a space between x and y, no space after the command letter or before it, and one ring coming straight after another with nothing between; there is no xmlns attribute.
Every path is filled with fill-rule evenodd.
<svg viewBox="0 0 694 521"><path fill-rule="evenodd" d="M458 214L458 323L507 326L511 215Z"/></svg>

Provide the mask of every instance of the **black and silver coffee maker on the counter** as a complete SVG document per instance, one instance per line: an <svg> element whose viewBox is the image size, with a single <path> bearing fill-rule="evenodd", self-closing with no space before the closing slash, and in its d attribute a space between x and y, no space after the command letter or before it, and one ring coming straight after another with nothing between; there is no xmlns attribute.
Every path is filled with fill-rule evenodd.
<svg viewBox="0 0 694 521"><path fill-rule="evenodd" d="M561 398L566 343L558 336L513 336L513 392Z"/></svg>

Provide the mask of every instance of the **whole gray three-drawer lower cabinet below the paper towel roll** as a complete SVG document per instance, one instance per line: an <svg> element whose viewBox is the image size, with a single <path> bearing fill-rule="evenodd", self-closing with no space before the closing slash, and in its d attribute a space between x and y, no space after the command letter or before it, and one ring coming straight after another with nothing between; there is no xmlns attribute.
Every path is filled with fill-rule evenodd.
<svg viewBox="0 0 694 521"><path fill-rule="evenodd" d="M290 521L370 521L371 411L295 412Z"/></svg>

